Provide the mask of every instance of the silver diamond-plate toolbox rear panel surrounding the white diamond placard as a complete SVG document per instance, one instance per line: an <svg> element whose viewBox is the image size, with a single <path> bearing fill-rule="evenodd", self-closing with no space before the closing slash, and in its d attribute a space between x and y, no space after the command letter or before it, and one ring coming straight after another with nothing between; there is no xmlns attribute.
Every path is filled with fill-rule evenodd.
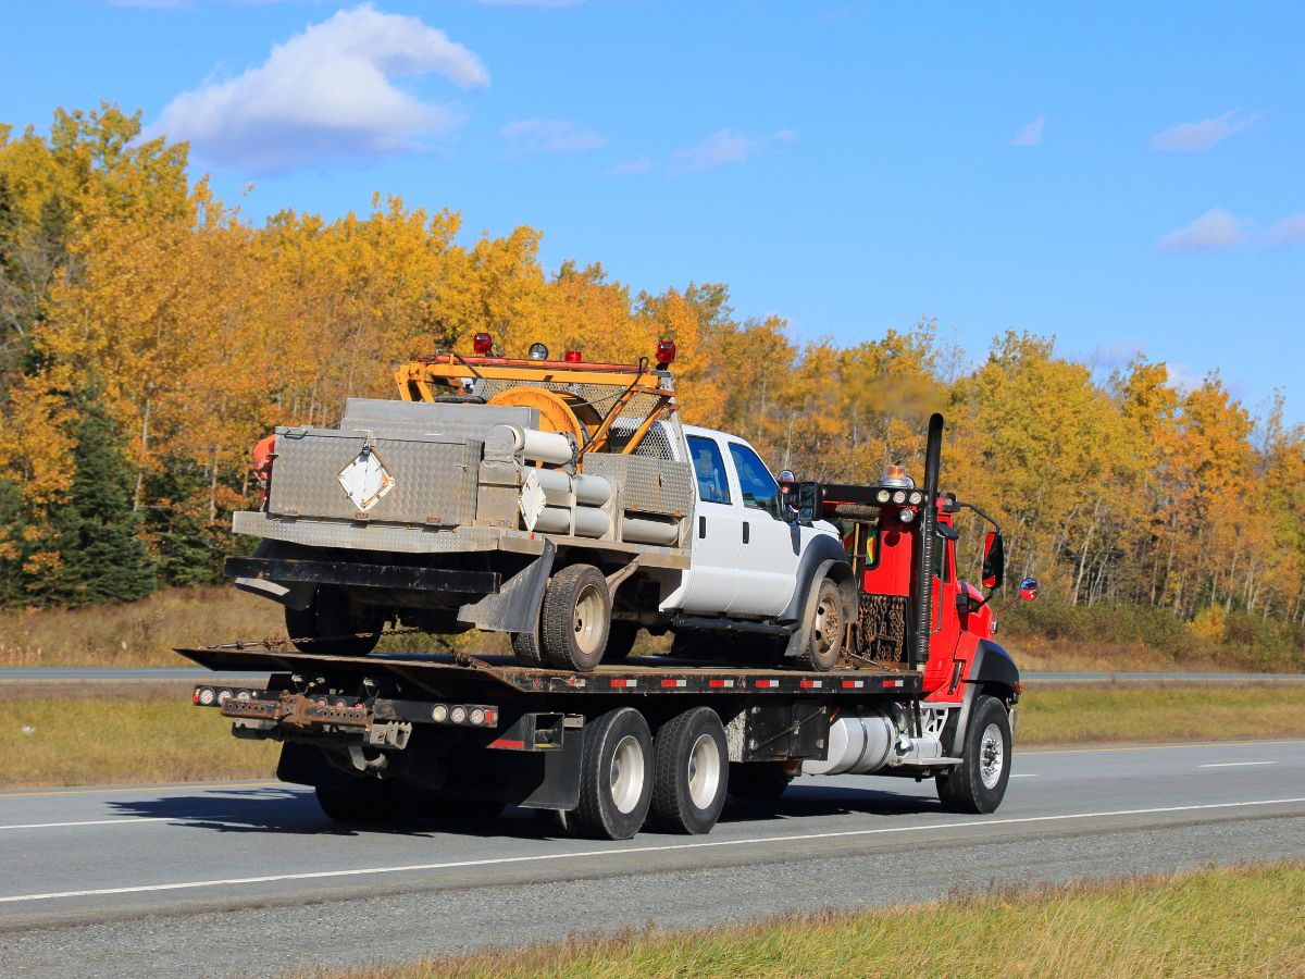
<svg viewBox="0 0 1305 979"><path fill-rule="evenodd" d="M341 486L339 474L369 437L371 452L384 462L394 484L363 514ZM455 436L403 439L359 429L278 428L268 512L445 527L474 523L482 446L478 439Z"/></svg>

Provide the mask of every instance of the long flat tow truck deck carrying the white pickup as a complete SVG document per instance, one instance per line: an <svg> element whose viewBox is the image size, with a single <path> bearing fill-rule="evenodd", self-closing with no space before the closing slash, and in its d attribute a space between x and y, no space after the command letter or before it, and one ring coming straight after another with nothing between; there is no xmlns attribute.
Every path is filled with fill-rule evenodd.
<svg viewBox="0 0 1305 979"><path fill-rule="evenodd" d="M919 693L920 674L877 667L814 672L749 667L739 663L685 662L641 657L602 664L589 674L523 667L512 657L454 658L440 654L372 653L342 657L299 653L270 644L230 644L176 650L214 671L268 670L311 676L389 676L437 696L467 688L499 693L646 696L651 693L829 696L880 692Z"/></svg>

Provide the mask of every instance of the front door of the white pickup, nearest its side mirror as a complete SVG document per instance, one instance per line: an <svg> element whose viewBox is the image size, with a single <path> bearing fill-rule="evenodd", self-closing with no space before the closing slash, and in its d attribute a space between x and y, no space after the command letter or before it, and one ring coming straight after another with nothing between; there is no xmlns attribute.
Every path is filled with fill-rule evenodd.
<svg viewBox="0 0 1305 979"><path fill-rule="evenodd" d="M743 521L739 587L731 615L778 615L797 583L801 531L779 518L779 483L744 443L729 443L729 461L739 476Z"/></svg>

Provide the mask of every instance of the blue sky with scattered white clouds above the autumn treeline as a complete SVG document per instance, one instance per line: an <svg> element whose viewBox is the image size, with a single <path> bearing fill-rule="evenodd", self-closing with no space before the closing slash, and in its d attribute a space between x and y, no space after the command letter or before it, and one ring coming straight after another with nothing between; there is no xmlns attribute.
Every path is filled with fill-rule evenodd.
<svg viewBox="0 0 1305 979"><path fill-rule="evenodd" d="M1305 419L1293 4L47 0L5 34L0 120L141 108L253 221L398 193L797 339L1028 329Z"/></svg>

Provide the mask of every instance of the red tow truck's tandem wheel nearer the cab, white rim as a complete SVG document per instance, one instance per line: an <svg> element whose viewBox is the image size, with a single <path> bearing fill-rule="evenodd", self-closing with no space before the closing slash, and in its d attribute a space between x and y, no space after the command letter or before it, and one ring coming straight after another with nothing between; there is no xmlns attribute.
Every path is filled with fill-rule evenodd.
<svg viewBox="0 0 1305 979"><path fill-rule="evenodd" d="M652 817L668 833L710 833L726 804L729 749L711 707L694 707L658 728L652 741Z"/></svg>

